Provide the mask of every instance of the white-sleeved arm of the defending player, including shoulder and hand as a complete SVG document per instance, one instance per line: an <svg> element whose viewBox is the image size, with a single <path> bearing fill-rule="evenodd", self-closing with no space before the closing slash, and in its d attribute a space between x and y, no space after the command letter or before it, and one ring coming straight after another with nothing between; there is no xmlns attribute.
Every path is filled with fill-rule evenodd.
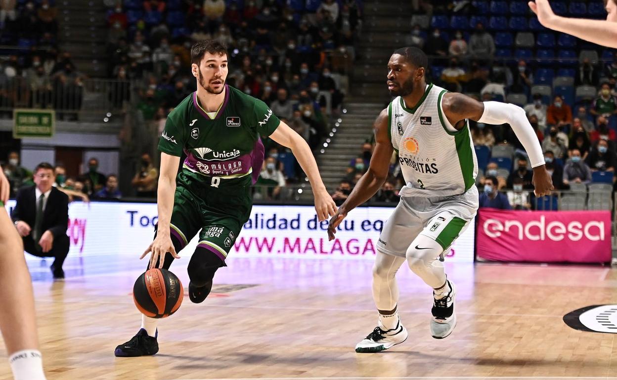
<svg viewBox="0 0 617 380"><path fill-rule="evenodd" d="M553 182L544 165L544 154L527 115L518 105L501 102L478 102L466 95L449 92L444 95L442 107L445 117L453 126L464 119L485 124L510 124L518 140L523 144L531 167L534 169L533 184L536 196L549 195Z"/></svg>

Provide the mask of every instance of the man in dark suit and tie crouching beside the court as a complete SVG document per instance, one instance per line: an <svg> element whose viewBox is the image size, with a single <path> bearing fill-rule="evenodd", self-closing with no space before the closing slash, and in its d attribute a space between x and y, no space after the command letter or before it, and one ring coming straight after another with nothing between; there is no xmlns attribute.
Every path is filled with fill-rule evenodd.
<svg viewBox="0 0 617 380"><path fill-rule="evenodd" d="M38 257L55 257L51 271L54 278L64 278L62 263L70 246L68 196L52 187L54 168L51 164L38 164L34 181L35 186L22 188L17 193L11 217L22 236L25 251Z"/></svg>

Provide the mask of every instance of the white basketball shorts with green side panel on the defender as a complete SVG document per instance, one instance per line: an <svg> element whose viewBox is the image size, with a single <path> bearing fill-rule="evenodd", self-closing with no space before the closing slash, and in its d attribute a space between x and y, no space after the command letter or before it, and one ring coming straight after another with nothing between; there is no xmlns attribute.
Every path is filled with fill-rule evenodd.
<svg viewBox="0 0 617 380"><path fill-rule="evenodd" d="M402 196L379 235L377 249L405 257L416 236L424 235L437 241L445 251L474 219L476 211L478 188L475 186L453 196Z"/></svg>

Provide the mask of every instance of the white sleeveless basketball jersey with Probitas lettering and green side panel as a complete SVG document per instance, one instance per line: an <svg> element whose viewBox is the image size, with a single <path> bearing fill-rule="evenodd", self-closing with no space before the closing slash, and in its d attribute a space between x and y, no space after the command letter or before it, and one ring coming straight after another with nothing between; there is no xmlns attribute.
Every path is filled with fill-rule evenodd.
<svg viewBox="0 0 617 380"><path fill-rule="evenodd" d="M402 196L457 195L476 182L478 160L469 123L457 131L443 115L445 92L429 84L415 108L407 108L400 96L388 106L392 145L407 182Z"/></svg>

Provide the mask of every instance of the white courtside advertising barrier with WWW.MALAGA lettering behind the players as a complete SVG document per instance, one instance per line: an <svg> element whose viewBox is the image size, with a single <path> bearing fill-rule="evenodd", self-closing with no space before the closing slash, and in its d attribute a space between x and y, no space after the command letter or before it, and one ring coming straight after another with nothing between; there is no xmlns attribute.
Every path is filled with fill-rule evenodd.
<svg viewBox="0 0 617 380"><path fill-rule="evenodd" d="M7 210L14 206L9 201ZM311 206L253 206L230 257L297 257L310 259L373 259L384 223L394 208L354 209L328 241L328 222L318 222ZM81 202L68 207L69 256L133 255L138 257L154 237L154 203ZM197 238L183 250L191 252ZM473 261L474 224L446 254L448 261ZM28 255L29 256L29 255Z"/></svg>

